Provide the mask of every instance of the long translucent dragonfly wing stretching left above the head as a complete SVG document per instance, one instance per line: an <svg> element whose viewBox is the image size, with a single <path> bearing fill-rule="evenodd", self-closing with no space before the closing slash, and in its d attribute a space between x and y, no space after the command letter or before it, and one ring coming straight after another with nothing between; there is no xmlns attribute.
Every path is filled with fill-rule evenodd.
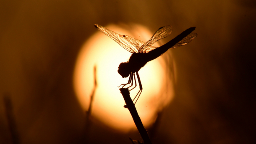
<svg viewBox="0 0 256 144"><path fill-rule="evenodd" d="M138 49L140 47L141 42L139 42L137 39L130 37L128 35L120 35L112 30L109 30L105 27L102 27L101 25L94 25L98 30L103 32L105 35L108 35L110 38L115 40L119 45L121 45L125 50L128 50L131 53L137 53ZM132 39L133 38L133 39Z"/></svg>

